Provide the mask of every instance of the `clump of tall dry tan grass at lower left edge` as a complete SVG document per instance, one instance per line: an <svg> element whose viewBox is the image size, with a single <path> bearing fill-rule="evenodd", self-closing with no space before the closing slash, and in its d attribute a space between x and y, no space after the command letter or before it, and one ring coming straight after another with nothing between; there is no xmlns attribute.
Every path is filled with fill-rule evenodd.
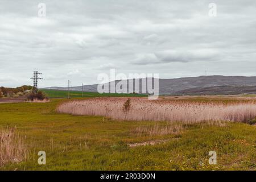
<svg viewBox="0 0 256 182"><path fill-rule="evenodd" d="M27 157L24 139L15 129L0 130L0 167L6 163L18 163Z"/></svg>

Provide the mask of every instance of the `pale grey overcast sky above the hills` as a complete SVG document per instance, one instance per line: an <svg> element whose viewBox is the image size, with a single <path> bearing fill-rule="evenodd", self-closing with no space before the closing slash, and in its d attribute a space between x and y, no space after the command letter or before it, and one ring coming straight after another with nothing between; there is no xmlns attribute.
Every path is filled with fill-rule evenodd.
<svg viewBox="0 0 256 182"><path fill-rule="evenodd" d="M39 87L95 84L110 68L256 76L255 32L255 0L0 0L0 86L32 85L34 70Z"/></svg>

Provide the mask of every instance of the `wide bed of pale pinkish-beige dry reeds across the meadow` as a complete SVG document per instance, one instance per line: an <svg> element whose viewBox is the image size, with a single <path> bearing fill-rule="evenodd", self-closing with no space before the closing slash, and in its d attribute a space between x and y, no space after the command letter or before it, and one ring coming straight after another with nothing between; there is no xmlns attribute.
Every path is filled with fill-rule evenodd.
<svg viewBox="0 0 256 182"><path fill-rule="evenodd" d="M204 121L247 122L256 117L254 102L191 102L150 101L131 98L130 109L123 111L127 98L93 98L64 102L57 107L60 113L101 115L128 121L170 121L201 123Z"/></svg>

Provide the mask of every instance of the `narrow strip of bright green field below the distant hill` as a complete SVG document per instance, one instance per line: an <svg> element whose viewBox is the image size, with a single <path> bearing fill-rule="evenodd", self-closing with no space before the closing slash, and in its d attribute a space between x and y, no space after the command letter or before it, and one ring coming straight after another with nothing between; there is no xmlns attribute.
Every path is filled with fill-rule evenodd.
<svg viewBox="0 0 256 182"><path fill-rule="evenodd" d="M40 89L47 94L49 98L68 98L67 90L49 90ZM97 93L97 92L81 92L81 91L70 91L70 97L146 97L144 94L121 94L121 93Z"/></svg>

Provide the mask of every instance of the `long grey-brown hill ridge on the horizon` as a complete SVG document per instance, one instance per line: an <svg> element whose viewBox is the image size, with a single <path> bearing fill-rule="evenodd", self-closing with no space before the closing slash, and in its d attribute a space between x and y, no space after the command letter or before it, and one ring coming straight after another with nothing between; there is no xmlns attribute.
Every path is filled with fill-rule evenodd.
<svg viewBox="0 0 256 182"><path fill-rule="evenodd" d="M140 86L147 78L140 79ZM119 82L115 81L115 84ZM97 92L97 84L85 85L85 92ZM67 87L49 87L44 89L68 90ZM73 86L71 90L82 90L82 86ZM256 77L245 76L199 76L159 79L160 94L241 94L256 93Z"/></svg>

